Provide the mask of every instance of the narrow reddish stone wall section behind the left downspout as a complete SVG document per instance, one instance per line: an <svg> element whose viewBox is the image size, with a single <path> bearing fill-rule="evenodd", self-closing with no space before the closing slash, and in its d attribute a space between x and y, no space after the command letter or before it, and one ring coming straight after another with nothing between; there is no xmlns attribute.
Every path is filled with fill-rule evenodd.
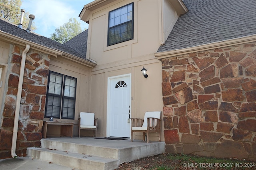
<svg viewBox="0 0 256 170"><path fill-rule="evenodd" d="M20 63L24 50L24 47L17 45L11 45L10 48L13 49L13 52L10 54L12 57L8 64L8 87L2 114L1 159L11 157ZM27 147L41 146L49 61L49 55L31 49L26 55L16 145L18 156L26 156Z"/></svg>

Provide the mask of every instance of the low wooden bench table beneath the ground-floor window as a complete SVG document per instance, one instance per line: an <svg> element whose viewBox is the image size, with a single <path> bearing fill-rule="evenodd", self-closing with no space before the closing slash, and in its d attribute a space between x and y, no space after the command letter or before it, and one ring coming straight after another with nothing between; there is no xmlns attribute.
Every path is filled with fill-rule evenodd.
<svg viewBox="0 0 256 170"><path fill-rule="evenodd" d="M43 137L46 138L47 126L48 125L60 125L60 134L53 135L52 137L63 137L70 136L73 137L73 127L72 122L59 122L59 121L44 121Z"/></svg>

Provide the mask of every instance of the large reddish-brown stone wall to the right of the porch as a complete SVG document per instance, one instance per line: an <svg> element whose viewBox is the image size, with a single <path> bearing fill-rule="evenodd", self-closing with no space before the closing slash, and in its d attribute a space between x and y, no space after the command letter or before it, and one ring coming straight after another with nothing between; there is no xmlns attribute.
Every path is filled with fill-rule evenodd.
<svg viewBox="0 0 256 170"><path fill-rule="evenodd" d="M256 43L162 59L166 152L256 158Z"/></svg>

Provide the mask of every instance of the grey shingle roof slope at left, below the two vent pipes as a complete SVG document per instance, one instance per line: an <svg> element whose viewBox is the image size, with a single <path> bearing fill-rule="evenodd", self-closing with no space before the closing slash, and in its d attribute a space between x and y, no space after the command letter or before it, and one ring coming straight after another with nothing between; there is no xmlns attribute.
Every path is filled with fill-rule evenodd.
<svg viewBox="0 0 256 170"><path fill-rule="evenodd" d="M68 46L68 45L64 45L61 43L58 43L54 40L51 40L47 37L41 36L41 35L37 35L34 33L28 33L26 30L24 29L20 29L18 28L16 25L13 25L11 23L8 23L4 20L0 20L0 30L6 33L9 33L11 35L15 35L17 37L20 37L22 39L26 39L28 41L32 41L34 43L37 43L39 45L43 45L45 47L51 48L51 49L56 49L58 51L62 51L71 55L74 55L76 57L82 58L82 59L86 59L86 55L82 55L79 53L79 51L76 51L76 49ZM84 40L85 43L87 44L87 39ZM81 44L83 44L81 41L79 42Z"/></svg>

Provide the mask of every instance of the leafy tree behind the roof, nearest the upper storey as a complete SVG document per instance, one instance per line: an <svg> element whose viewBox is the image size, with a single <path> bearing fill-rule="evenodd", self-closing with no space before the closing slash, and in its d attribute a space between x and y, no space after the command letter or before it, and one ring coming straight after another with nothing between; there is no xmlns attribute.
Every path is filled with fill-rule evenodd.
<svg viewBox="0 0 256 170"><path fill-rule="evenodd" d="M64 23L59 28L55 29L55 32L51 34L50 39L64 44L81 32L82 29L80 23L76 18L70 18L67 23Z"/></svg>

